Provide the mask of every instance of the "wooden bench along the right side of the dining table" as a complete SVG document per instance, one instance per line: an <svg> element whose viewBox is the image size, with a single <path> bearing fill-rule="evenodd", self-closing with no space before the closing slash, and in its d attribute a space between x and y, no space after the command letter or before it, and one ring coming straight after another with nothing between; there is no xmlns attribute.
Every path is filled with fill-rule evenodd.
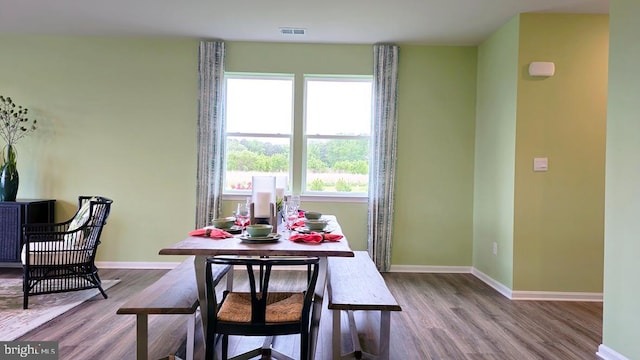
<svg viewBox="0 0 640 360"><path fill-rule="evenodd" d="M329 309L333 310L333 359L362 355L373 359L389 359L389 328L391 311L402 311L393 297L382 275L378 272L366 251L354 251L353 258L330 257L328 266L327 290L329 292ZM354 350L342 354L340 314L347 311L349 330ZM380 340L378 354L362 351L358 339L353 311L380 311Z"/></svg>

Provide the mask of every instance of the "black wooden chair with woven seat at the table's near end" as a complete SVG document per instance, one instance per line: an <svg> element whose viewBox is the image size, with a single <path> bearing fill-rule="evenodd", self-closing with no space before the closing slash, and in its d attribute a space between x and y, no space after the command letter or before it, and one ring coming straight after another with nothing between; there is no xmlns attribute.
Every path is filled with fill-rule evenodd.
<svg viewBox="0 0 640 360"><path fill-rule="evenodd" d="M242 265L247 269L249 292L225 291L219 304L216 298L216 281L211 268L214 264ZM292 284L291 291L270 291L269 280L272 268L286 266L303 267L307 281L302 286ZM229 335L265 336L262 348L258 348L233 359L250 359L258 355L281 359L290 357L271 347L273 336L300 334L300 359L310 358L310 315L314 301L314 289L318 279L317 257L269 257L242 258L215 256L207 259L207 331L206 359L212 360L218 335L222 335L222 358L227 359ZM256 277L255 272L259 275ZM295 287L297 289L293 290Z"/></svg>

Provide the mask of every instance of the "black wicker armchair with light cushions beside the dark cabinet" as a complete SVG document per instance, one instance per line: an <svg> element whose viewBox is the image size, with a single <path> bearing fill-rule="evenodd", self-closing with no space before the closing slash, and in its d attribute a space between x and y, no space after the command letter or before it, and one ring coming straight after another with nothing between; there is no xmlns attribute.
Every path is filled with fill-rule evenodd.
<svg viewBox="0 0 640 360"><path fill-rule="evenodd" d="M23 226L24 309L32 295L97 288L107 298L94 260L112 202L100 196L79 196L72 219Z"/></svg>

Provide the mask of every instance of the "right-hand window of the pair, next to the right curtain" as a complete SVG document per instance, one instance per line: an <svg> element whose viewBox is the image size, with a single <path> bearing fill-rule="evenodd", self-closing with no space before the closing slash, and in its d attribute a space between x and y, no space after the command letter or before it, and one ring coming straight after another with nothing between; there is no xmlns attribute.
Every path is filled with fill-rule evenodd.
<svg viewBox="0 0 640 360"><path fill-rule="evenodd" d="M371 78L305 78L306 193L366 194Z"/></svg>

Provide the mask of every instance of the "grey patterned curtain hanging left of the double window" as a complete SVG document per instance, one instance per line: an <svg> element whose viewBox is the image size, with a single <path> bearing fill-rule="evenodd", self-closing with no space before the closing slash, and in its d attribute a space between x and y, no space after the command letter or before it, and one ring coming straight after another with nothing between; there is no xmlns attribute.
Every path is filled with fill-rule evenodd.
<svg viewBox="0 0 640 360"><path fill-rule="evenodd" d="M196 228L209 225L222 207L224 56L224 42L200 42Z"/></svg>

